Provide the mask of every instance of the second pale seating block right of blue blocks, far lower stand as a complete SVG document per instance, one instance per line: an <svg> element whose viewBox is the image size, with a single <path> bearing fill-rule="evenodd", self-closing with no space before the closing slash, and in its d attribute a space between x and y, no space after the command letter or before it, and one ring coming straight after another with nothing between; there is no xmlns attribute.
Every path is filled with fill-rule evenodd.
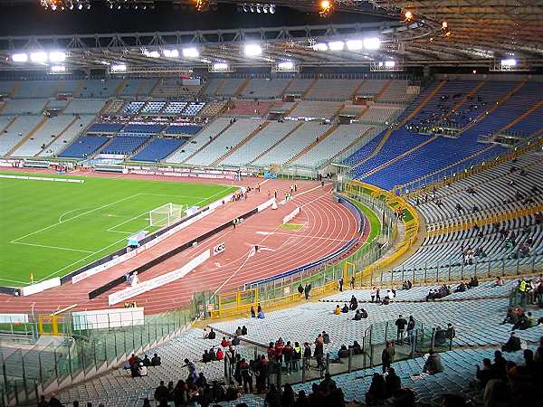
<svg viewBox="0 0 543 407"><path fill-rule="evenodd" d="M228 152L228 149L235 147L239 142L248 137L254 130L261 126L263 120L251 118L239 118L224 133L217 137L209 146L205 147L198 154L193 156L186 164L209 166L217 158Z"/></svg>

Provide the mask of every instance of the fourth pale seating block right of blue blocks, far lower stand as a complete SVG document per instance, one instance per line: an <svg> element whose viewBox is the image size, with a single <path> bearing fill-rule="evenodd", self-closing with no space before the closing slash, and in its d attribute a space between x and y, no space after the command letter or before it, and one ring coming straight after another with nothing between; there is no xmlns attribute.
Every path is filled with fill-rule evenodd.
<svg viewBox="0 0 543 407"><path fill-rule="evenodd" d="M253 164L255 166L283 164L300 152L304 147L308 147L315 141L316 137L321 136L328 131L329 128L328 125L321 125L314 121L303 123L300 128L291 134L291 136L285 138L277 146L271 148L269 152L258 158Z"/></svg>

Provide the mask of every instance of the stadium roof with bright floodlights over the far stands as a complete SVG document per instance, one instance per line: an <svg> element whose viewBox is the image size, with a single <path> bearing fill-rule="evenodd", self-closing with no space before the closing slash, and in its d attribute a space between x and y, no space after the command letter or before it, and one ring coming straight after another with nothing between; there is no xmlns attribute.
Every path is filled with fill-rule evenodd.
<svg viewBox="0 0 543 407"><path fill-rule="evenodd" d="M224 3L222 0L218 0ZM189 3L180 0L177 3ZM241 3L241 2L228 2ZM257 3L245 1L243 3ZM318 12L314 0L278 0L300 10ZM231 67L273 66L291 61L298 66L374 66L395 61L399 66L486 66L500 70L501 60L515 59L507 70L543 66L543 5L532 0L336 0L338 12L386 14L388 21L320 24L233 30L153 33L110 33L0 37L1 70L47 69L48 62L13 62L17 52L66 52L68 71L124 63L129 71L206 68L214 62ZM411 18L405 18L410 12ZM213 13L213 12L211 12ZM378 49L364 39L379 38ZM354 40L353 43L347 43ZM360 43L362 41L362 44ZM337 42L343 42L343 45ZM262 54L247 56L246 43ZM321 45L316 45L316 44ZM322 44L336 43L334 50ZM352 45L349 46L348 45ZM184 57L194 47L198 56ZM339 48L342 48L339 50ZM373 48L373 47L372 47ZM165 56L177 50L179 55Z"/></svg>

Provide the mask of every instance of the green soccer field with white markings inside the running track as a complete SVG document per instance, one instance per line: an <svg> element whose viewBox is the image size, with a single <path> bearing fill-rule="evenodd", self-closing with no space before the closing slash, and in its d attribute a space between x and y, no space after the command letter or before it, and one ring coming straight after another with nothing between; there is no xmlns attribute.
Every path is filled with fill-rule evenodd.
<svg viewBox="0 0 543 407"><path fill-rule="evenodd" d="M31 273L35 282L62 277L126 247L132 233L156 230L149 227L150 210L168 203L202 207L236 189L58 176L85 182L0 178L0 285L23 287Z"/></svg>

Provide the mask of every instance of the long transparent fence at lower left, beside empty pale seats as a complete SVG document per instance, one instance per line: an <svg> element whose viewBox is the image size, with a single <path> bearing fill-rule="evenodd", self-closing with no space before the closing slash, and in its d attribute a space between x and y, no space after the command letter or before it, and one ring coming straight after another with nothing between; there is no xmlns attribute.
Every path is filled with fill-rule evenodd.
<svg viewBox="0 0 543 407"><path fill-rule="evenodd" d="M42 336L24 347L0 346L0 406L31 402L40 394L89 379L124 363L132 353L141 354L171 339L202 315L208 298L208 293L198 294L186 308L147 317L141 325L126 321L125 327L78 327L66 314L58 322L59 336ZM37 318L29 324L37 332ZM43 340L46 337L51 340Z"/></svg>

